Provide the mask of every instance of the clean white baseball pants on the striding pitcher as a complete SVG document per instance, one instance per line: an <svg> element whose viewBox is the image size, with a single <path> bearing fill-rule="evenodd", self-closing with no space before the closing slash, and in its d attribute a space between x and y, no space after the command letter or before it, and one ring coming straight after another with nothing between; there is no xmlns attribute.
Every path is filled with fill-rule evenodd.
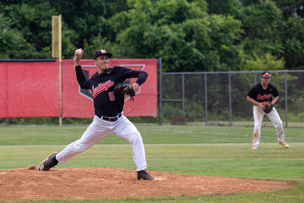
<svg viewBox="0 0 304 203"><path fill-rule="evenodd" d="M124 115L114 122L105 121L95 115L93 122L88 126L81 138L67 145L64 150L56 155L56 159L60 163L66 163L110 134L129 141L133 146L133 160L137 166L137 171L146 170L147 162L143 139L140 132Z"/></svg>

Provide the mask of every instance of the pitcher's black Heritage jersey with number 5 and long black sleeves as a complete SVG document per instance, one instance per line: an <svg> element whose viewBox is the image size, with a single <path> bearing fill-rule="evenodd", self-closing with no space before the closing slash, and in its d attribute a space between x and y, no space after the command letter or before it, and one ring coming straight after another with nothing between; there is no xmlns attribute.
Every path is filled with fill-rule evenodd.
<svg viewBox="0 0 304 203"><path fill-rule="evenodd" d="M81 66L76 66L77 81L82 89L91 89L94 101L95 114L105 117L115 117L123 111L124 95L114 92L117 83L129 78L137 78L136 83L143 84L148 74L130 68L114 66L102 73L96 72L86 80Z"/></svg>

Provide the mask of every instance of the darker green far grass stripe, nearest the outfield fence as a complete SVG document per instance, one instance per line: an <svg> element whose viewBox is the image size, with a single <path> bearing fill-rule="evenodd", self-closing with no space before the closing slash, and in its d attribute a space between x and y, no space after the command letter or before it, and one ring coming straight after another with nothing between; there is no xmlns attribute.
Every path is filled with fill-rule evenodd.
<svg viewBox="0 0 304 203"><path fill-rule="evenodd" d="M86 126L2 127L0 145L68 145L78 140L86 128ZM143 137L144 144L251 143L253 130L213 126L137 126L137 129ZM302 128L284 130L287 142L304 143ZM275 128L262 128L261 143L277 143ZM128 145L129 142L115 135L109 135L98 144Z"/></svg>

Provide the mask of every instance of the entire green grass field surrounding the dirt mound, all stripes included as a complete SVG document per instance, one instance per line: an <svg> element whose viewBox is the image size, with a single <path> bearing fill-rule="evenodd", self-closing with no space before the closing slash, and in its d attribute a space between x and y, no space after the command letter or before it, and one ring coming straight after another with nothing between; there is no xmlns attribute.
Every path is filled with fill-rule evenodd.
<svg viewBox="0 0 304 203"><path fill-rule="evenodd" d="M253 128L195 125L136 127L143 137L148 171L284 180L296 187L274 192L196 197L30 202L304 202L303 128L284 128L289 149L278 145L275 128L262 128L261 143L257 150L251 150ZM0 170L38 166L41 159L52 152L60 152L79 139L85 129L85 126L1 127ZM132 146L114 135L56 167L136 169Z"/></svg>

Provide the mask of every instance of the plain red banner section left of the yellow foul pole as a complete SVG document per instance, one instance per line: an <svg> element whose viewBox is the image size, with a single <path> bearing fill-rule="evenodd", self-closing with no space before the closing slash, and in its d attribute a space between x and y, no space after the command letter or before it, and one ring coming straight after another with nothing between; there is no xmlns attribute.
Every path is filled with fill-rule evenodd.
<svg viewBox="0 0 304 203"><path fill-rule="evenodd" d="M59 62L0 62L0 117L59 117Z"/></svg>

